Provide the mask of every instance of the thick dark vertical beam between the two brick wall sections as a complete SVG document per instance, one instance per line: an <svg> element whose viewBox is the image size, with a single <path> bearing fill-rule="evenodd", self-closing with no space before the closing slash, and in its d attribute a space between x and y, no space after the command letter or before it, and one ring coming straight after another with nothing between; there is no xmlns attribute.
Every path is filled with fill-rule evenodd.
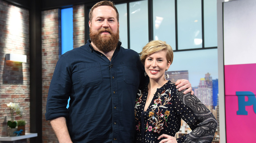
<svg viewBox="0 0 256 143"><path fill-rule="evenodd" d="M30 142L42 143L41 0L31 0L30 4L30 132L38 135Z"/></svg>

